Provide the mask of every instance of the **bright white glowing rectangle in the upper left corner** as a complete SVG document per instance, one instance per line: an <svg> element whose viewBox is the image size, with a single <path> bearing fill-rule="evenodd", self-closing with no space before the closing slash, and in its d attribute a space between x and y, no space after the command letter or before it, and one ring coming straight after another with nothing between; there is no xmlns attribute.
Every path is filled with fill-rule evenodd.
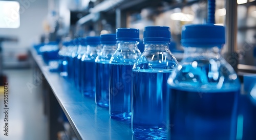
<svg viewBox="0 0 256 140"><path fill-rule="evenodd" d="M0 28L19 28L19 3L0 1Z"/></svg>

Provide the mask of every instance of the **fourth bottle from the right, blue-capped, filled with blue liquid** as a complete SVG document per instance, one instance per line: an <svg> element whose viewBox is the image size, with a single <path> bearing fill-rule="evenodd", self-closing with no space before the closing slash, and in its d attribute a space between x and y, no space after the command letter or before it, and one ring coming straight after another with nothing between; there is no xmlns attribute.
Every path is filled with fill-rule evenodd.
<svg viewBox="0 0 256 140"><path fill-rule="evenodd" d="M95 103L101 107L109 107L109 75L110 58L117 49L116 34L100 35L103 46L100 54L96 57L96 95Z"/></svg>

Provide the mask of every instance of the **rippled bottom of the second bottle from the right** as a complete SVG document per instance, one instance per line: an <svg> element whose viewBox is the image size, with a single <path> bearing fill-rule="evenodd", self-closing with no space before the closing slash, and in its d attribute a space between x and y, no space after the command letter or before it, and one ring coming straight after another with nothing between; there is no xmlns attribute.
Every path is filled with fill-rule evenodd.
<svg viewBox="0 0 256 140"><path fill-rule="evenodd" d="M166 139L167 131L163 128L136 128L133 135L138 139Z"/></svg>

